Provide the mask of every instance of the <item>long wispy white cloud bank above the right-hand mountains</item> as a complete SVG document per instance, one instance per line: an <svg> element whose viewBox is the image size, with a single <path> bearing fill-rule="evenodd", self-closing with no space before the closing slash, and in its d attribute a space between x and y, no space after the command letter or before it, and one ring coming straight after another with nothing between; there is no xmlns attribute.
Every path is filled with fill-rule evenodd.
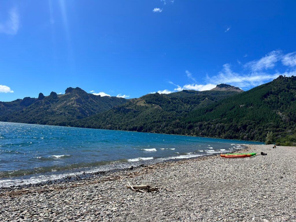
<svg viewBox="0 0 296 222"><path fill-rule="evenodd" d="M247 54L244 55L247 57ZM242 65L242 62L237 59L237 62ZM285 67L284 72L279 72L278 70L270 70L274 68L277 63L281 62L283 67ZM241 66L239 66L241 67ZM180 86L168 81L168 83L175 86L173 91L166 90L169 92L181 91L184 89L187 90L197 90L205 91L215 88L216 85L220 83L226 83L232 86L237 86L241 89L248 90L252 87L262 85L264 83L270 82L275 78L278 78L279 75L296 76L296 52L290 52L283 54L280 50L272 51L266 54L264 57L258 60L253 60L247 62L243 65L244 70L233 71L231 65L226 63L222 66L220 72L212 76L206 76L202 80L202 84L197 83L197 79L192 76L192 73L186 70L187 78L192 82Z"/></svg>

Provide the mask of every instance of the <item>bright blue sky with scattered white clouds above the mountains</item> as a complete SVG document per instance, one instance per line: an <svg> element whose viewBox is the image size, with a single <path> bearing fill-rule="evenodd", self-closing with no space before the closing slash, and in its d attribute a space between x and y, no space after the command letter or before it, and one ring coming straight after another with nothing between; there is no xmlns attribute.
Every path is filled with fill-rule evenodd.
<svg viewBox="0 0 296 222"><path fill-rule="evenodd" d="M0 101L248 90L296 75L296 1L0 0Z"/></svg>

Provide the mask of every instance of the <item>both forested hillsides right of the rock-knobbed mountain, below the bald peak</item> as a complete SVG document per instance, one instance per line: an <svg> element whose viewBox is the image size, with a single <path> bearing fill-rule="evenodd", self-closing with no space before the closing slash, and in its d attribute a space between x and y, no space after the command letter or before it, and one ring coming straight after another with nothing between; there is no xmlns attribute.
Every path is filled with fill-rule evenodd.
<svg viewBox="0 0 296 222"><path fill-rule="evenodd" d="M265 141L268 131L274 141L296 132L296 77L227 92L149 94L75 126L255 141Z"/></svg>

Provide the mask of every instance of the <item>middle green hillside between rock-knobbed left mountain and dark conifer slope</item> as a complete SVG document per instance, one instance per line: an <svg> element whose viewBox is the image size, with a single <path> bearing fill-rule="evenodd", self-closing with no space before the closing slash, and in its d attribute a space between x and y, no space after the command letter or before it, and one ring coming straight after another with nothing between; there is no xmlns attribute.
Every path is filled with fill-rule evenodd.
<svg viewBox="0 0 296 222"><path fill-rule="evenodd" d="M147 94L126 104L83 119L74 126L155 133L178 133L170 124L190 111L213 104L234 91L183 90L171 94ZM176 126L178 128L178 126Z"/></svg>

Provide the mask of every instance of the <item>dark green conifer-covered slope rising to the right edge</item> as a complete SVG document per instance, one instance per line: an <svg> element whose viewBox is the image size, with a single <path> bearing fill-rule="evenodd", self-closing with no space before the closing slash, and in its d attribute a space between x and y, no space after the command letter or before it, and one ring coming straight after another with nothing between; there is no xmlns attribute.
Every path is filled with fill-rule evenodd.
<svg viewBox="0 0 296 222"><path fill-rule="evenodd" d="M184 118L184 134L264 141L295 132L296 77L283 77L194 110ZM178 124L172 125L177 127Z"/></svg>

